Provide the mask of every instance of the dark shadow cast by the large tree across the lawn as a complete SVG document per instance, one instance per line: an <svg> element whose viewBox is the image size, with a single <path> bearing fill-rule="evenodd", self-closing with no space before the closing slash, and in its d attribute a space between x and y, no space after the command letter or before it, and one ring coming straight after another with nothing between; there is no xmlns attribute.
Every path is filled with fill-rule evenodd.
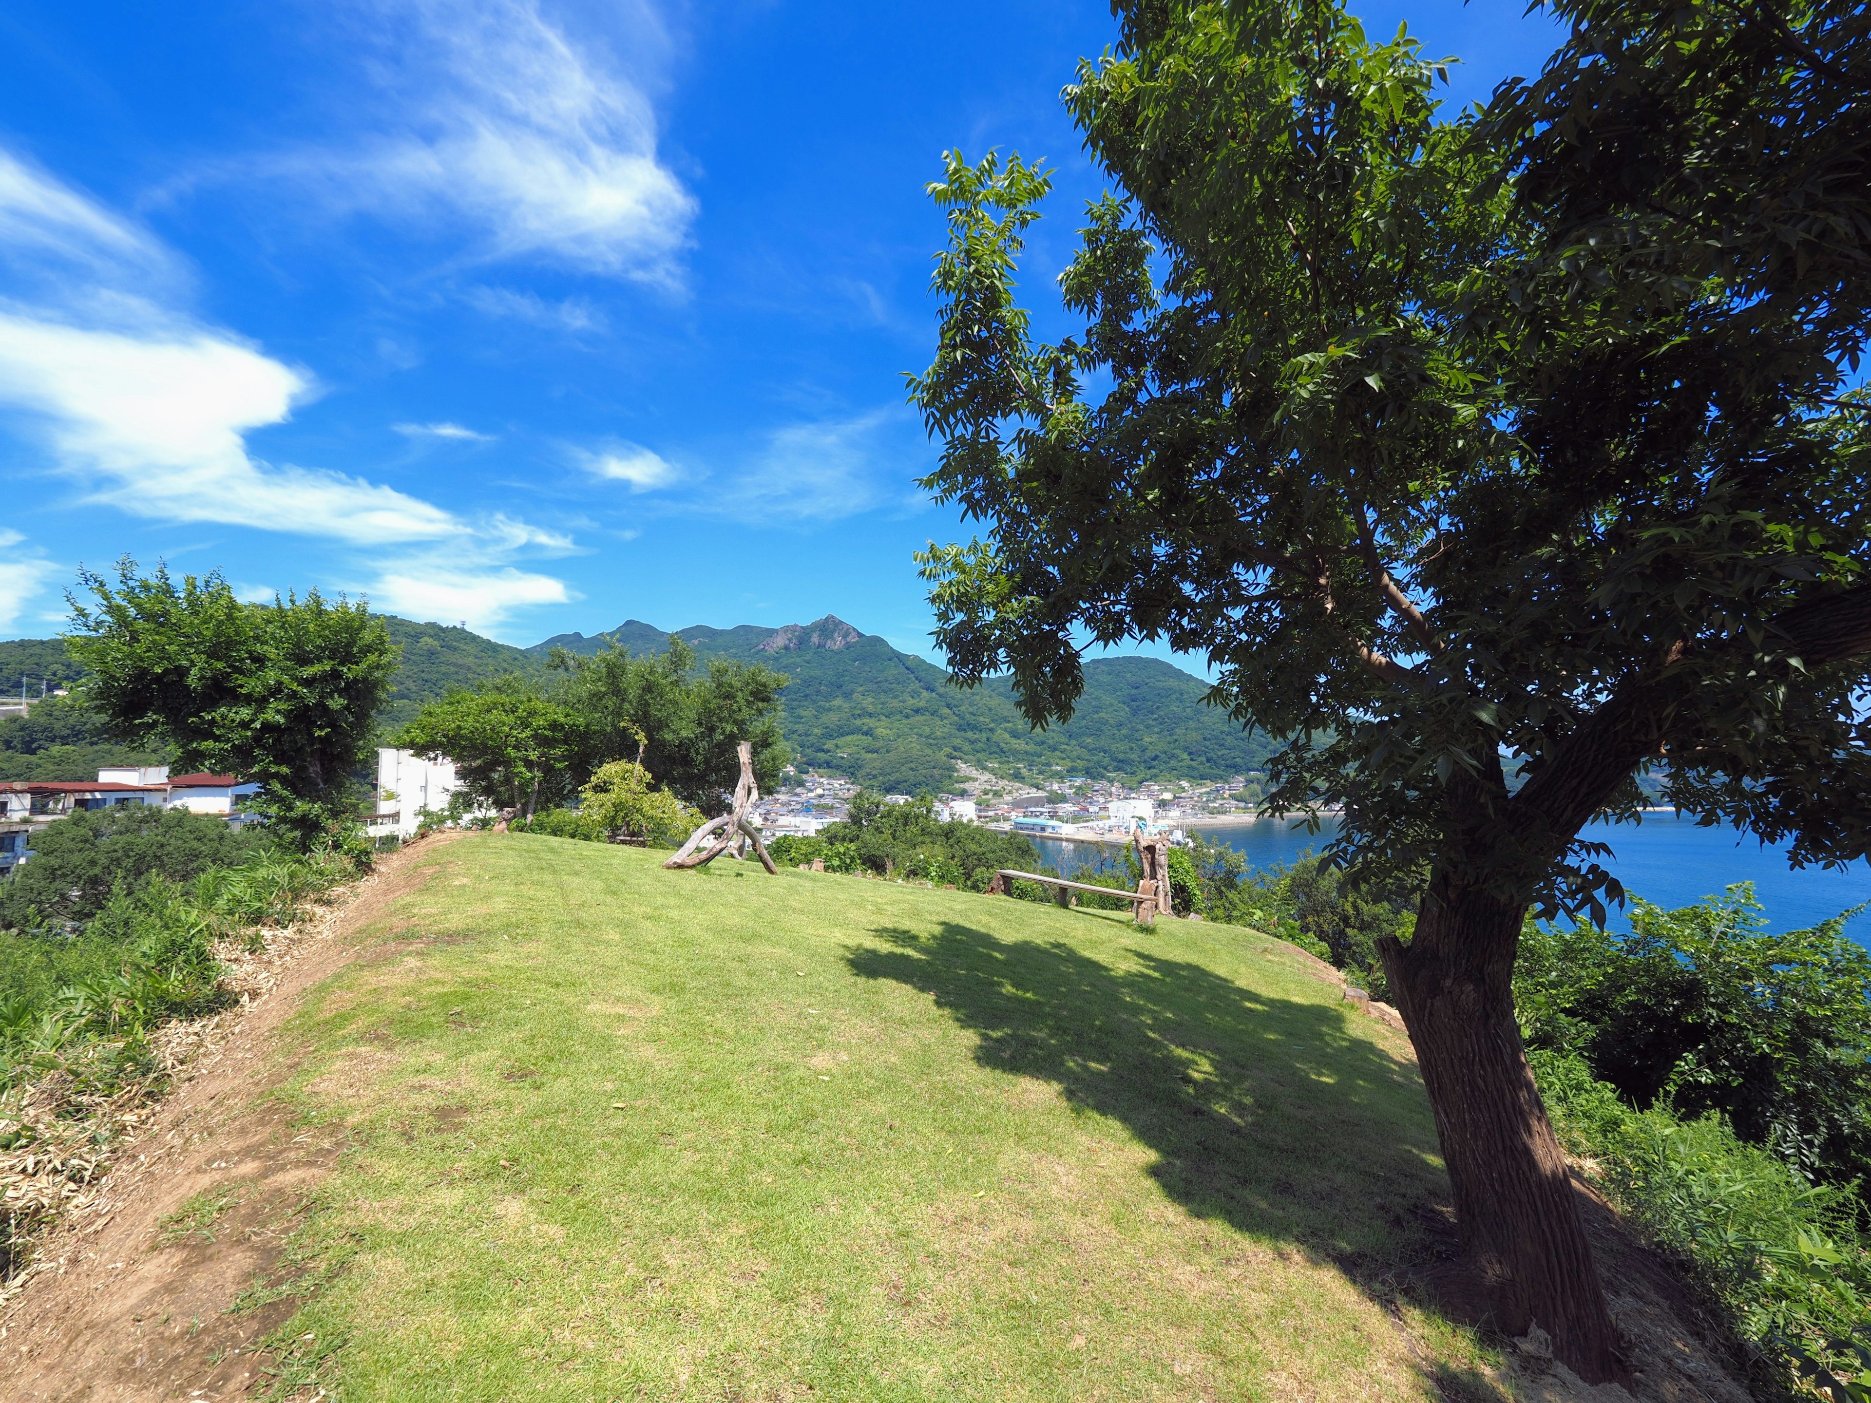
<svg viewBox="0 0 1871 1403"><path fill-rule="evenodd" d="M1323 1257L1385 1306L1454 1253L1416 1070L1356 1036L1340 1006L1261 995L1147 947L1111 967L956 922L872 933L889 948L853 950L853 973L932 995L977 1034L982 1066L1119 1121L1188 1212ZM1446 1397L1501 1397L1480 1375L1446 1373L1433 1366Z"/></svg>

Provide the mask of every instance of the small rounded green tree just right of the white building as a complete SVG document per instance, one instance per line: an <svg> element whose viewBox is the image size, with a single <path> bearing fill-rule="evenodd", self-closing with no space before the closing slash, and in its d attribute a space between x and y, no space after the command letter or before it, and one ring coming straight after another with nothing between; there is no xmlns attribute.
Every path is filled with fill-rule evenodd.
<svg viewBox="0 0 1871 1403"><path fill-rule="evenodd" d="M505 679L430 702L402 728L399 743L427 759L455 761L455 774L481 803L533 817L565 797L578 726L556 702L524 681Z"/></svg>

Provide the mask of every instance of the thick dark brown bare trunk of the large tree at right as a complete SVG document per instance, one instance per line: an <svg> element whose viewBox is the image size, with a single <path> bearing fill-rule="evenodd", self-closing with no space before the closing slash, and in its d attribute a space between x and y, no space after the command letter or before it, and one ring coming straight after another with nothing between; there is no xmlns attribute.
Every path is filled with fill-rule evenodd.
<svg viewBox="0 0 1871 1403"><path fill-rule="evenodd" d="M1624 1381L1572 1175L1514 1021L1525 907L1437 877L1409 945L1379 943L1435 1111L1461 1242L1493 1289L1495 1326L1538 1324L1590 1384Z"/></svg>

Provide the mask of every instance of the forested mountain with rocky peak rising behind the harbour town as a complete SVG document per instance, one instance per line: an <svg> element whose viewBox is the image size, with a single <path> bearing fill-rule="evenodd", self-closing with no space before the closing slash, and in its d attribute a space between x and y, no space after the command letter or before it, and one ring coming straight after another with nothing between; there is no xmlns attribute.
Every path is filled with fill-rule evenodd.
<svg viewBox="0 0 1871 1403"><path fill-rule="evenodd" d="M806 765L885 789L952 789L954 761L1035 782L1091 778L1227 778L1259 769L1272 745L1203 705L1207 683L1158 658L1095 658L1066 726L1033 731L1007 681L975 690L836 617L784 629L681 629L707 658L763 662L791 677L782 692L786 741ZM666 634L640 619L586 638L559 634L529 649L595 653L616 642L662 651Z"/></svg>

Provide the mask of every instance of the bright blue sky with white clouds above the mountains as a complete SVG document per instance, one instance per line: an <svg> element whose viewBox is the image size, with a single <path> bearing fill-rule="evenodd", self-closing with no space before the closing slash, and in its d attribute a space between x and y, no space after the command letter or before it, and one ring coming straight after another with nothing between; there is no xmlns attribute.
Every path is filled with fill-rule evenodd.
<svg viewBox="0 0 1871 1403"><path fill-rule="evenodd" d="M1471 101L1523 6L1377 4ZM939 153L1100 181L1057 92L1102 2L11 0L0 636L80 563L316 586L531 644L838 614L930 653L902 372ZM1057 333L1059 325L1042 329Z"/></svg>

